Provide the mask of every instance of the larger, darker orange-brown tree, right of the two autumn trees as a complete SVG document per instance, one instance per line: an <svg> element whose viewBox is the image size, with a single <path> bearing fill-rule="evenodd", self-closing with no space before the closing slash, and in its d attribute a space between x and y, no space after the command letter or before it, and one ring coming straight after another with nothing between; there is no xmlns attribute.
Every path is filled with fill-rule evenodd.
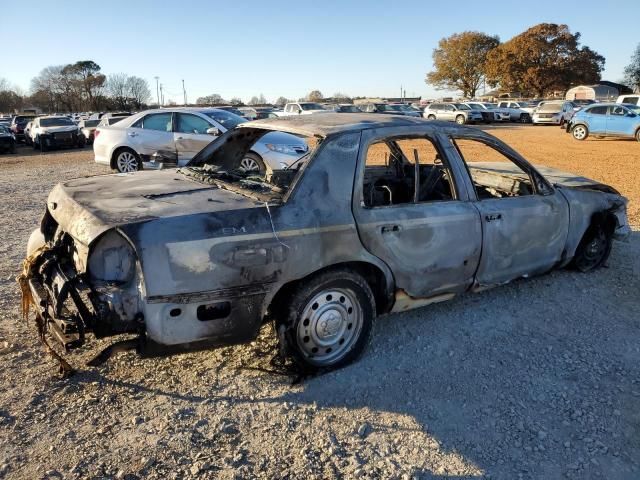
<svg viewBox="0 0 640 480"><path fill-rule="evenodd" d="M490 85L544 96L579 83L600 80L604 57L580 47L580 33L567 25L541 23L516 35L487 55Z"/></svg>

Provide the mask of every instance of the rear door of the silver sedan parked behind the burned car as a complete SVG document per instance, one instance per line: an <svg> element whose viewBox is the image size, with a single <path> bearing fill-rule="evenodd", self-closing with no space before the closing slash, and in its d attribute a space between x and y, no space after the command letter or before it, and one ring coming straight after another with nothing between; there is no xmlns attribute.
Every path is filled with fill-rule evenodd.
<svg viewBox="0 0 640 480"><path fill-rule="evenodd" d="M175 154L172 115L171 112L150 113L126 129L127 144L143 157L143 161L148 161L156 152Z"/></svg>

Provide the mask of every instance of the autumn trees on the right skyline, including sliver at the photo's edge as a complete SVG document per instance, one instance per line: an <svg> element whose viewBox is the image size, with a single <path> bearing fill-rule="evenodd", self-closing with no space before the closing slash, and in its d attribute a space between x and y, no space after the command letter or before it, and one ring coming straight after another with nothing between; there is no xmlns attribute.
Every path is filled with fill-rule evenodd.
<svg viewBox="0 0 640 480"><path fill-rule="evenodd" d="M581 46L580 33L571 33L567 25L541 23L506 42L482 32L455 33L440 40L433 64L425 81L467 98L474 98L483 85L544 97L597 83L605 58ZM625 69L624 82L640 88L640 45Z"/></svg>

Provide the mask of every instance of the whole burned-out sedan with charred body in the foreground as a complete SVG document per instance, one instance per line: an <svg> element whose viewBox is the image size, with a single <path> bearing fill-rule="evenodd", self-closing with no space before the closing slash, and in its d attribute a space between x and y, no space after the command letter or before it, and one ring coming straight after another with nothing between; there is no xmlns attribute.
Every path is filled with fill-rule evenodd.
<svg viewBox="0 0 640 480"><path fill-rule="evenodd" d="M265 176L239 168L273 131L312 148ZM259 120L180 169L56 186L29 241L23 307L67 348L88 332L136 333L143 350L229 345L274 322L297 364L334 368L362 352L377 315L601 266L629 234L626 202L474 128Z"/></svg>

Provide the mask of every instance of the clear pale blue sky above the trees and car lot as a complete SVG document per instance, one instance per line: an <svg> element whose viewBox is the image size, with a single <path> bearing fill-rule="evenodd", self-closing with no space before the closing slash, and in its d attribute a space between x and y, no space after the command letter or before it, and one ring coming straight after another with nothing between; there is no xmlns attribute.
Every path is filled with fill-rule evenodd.
<svg viewBox="0 0 640 480"><path fill-rule="evenodd" d="M615 5L615 7L614 7ZM47 65L91 59L165 87L165 99L219 93L247 101L304 96L443 95L424 83L438 40L464 30L508 40L540 22L566 23L622 78L640 42L640 1L121 1L6 2L0 77L28 90Z"/></svg>

